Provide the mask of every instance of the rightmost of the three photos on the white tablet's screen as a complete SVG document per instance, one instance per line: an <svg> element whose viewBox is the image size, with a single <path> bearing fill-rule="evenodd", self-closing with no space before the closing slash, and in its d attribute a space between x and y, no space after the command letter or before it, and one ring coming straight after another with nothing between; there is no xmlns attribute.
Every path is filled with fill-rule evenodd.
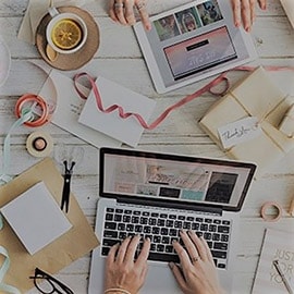
<svg viewBox="0 0 294 294"><path fill-rule="evenodd" d="M222 20L222 14L217 0L206 1L197 5L204 25L216 23Z"/></svg>

